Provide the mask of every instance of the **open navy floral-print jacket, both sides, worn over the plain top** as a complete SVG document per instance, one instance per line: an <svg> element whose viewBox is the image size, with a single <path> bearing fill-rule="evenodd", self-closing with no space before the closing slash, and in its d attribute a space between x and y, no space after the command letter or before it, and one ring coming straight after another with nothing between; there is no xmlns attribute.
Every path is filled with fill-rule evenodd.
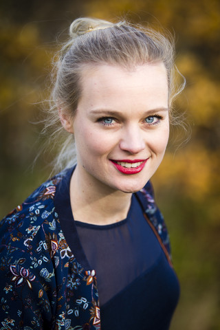
<svg viewBox="0 0 220 330"><path fill-rule="evenodd" d="M96 271L79 263L76 231L70 250L54 205L65 175L67 170L46 181L0 223L0 330L100 330ZM170 263L168 233L151 184L136 194Z"/></svg>

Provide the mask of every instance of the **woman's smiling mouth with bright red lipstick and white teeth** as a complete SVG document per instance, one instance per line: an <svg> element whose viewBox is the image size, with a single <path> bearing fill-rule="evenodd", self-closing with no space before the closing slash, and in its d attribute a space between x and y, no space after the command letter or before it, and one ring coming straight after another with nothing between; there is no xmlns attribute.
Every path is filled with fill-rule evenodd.
<svg viewBox="0 0 220 330"><path fill-rule="evenodd" d="M139 173L146 164L148 159L122 159L122 160L113 160L110 159L115 168L117 168L121 173L124 174L136 174Z"/></svg>

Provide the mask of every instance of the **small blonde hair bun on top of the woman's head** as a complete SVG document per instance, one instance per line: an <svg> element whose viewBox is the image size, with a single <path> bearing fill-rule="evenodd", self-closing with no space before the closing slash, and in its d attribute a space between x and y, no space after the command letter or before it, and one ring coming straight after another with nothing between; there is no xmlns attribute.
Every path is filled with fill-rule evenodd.
<svg viewBox="0 0 220 330"><path fill-rule="evenodd" d="M69 36L73 38L94 30L111 28L113 25L115 24L104 21L102 19L90 19L83 17L80 19L75 19L75 21L73 21L73 23L70 25Z"/></svg>

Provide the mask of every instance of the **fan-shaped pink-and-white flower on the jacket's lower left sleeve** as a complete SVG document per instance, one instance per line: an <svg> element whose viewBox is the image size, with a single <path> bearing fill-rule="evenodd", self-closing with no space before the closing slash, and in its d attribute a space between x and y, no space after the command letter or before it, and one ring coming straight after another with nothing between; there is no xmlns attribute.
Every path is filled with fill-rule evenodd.
<svg viewBox="0 0 220 330"><path fill-rule="evenodd" d="M19 265L11 265L10 271L14 275L12 277L12 282L15 282L15 285L18 287L19 285L23 285L24 283L28 284L28 287L32 289L32 281L35 280L36 276L32 274L29 270L26 270L24 267L20 267Z"/></svg>

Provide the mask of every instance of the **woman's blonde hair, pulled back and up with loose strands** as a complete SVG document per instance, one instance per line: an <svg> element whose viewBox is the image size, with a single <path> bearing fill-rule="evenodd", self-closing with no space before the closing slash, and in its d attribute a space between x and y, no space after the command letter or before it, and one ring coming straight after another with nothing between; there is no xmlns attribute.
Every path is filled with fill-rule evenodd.
<svg viewBox="0 0 220 330"><path fill-rule="evenodd" d="M111 23L100 19L80 18L69 28L69 40L58 53L54 71L49 118L45 129L54 127L50 145L60 146L54 169L76 163L74 137L62 128L58 108L74 117L81 94L80 73L86 65L108 63L131 68L135 65L162 62L168 79L170 118L175 96L184 83L175 83L175 49L173 40L151 28L133 26L126 21ZM68 134L68 135L67 135Z"/></svg>

